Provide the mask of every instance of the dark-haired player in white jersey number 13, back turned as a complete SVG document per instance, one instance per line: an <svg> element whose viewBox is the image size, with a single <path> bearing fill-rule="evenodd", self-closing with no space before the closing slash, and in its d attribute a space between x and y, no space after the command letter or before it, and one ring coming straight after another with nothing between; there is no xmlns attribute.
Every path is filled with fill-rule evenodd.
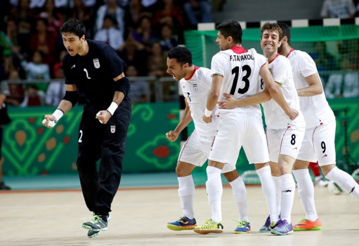
<svg viewBox="0 0 359 246"><path fill-rule="evenodd" d="M288 116L294 119L298 112L286 103L280 88L270 74L267 59L257 54L254 49L245 50L242 47L241 25L236 20L227 20L218 25L217 30L216 42L221 51L212 57L212 86L203 120L211 121L218 98L223 93L232 94L235 98L256 94L259 90L260 74L272 97L281 104ZM206 189L212 215L202 226L195 227L194 232L200 234L223 232L223 230L218 230L223 227L221 172L225 165L235 166L242 146L248 162L254 163L261 178L270 214L276 221L275 189L268 164L269 154L260 106L238 107L231 110L218 109L216 115L220 123L206 169Z"/></svg>

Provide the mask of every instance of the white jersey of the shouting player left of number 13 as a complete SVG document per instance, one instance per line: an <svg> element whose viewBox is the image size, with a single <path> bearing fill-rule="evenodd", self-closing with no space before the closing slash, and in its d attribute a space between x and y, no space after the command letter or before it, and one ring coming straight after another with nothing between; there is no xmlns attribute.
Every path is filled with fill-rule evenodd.
<svg viewBox="0 0 359 246"><path fill-rule="evenodd" d="M218 119L215 116L216 108L212 111L212 122L207 124L202 119L212 85L211 70L195 66L193 74L187 79L179 80L179 83L191 110L194 127L198 134L200 136L215 136L218 125Z"/></svg>

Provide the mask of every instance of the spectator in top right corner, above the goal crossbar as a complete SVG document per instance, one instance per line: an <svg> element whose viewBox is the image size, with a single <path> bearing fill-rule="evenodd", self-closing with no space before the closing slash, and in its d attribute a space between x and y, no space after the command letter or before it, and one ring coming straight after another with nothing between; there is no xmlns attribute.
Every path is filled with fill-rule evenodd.
<svg viewBox="0 0 359 246"><path fill-rule="evenodd" d="M323 18L354 18L353 0L325 0L321 10Z"/></svg>

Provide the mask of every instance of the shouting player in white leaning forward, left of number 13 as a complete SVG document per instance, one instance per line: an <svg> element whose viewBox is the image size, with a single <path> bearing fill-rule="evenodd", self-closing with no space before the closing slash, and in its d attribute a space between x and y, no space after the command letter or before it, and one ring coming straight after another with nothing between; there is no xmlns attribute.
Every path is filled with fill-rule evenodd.
<svg viewBox="0 0 359 246"><path fill-rule="evenodd" d="M212 120L206 124L202 120L206 108L206 101L211 90L211 71L207 68L199 68L192 64L192 54L185 47L175 47L168 52L167 73L179 81L183 95L186 98L186 109L173 131L166 133L170 141L175 141L182 130L193 119L194 131L187 139L179 153L176 166L178 178L178 195L181 200L183 215L174 222L168 222L167 228L173 231L193 230L196 220L193 213L194 182L192 171L195 167L202 167L206 162L214 137L217 133L218 119L212 113ZM235 203L237 205L239 222L234 233L250 232L247 215L247 193L243 180L235 166L225 165L222 173L230 183ZM222 186L222 183L221 183Z"/></svg>

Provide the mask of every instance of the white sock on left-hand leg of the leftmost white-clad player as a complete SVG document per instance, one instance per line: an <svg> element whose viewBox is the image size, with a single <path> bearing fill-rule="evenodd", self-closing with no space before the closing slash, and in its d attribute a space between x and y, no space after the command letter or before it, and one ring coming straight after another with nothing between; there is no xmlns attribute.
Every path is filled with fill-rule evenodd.
<svg viewBox="0 0 359 246"><path fill-rule="evenodd" d="M193 219L194 182L192 175L188 175L186 177L178 177L177 179L178 196L179 200L181 200L183 216Z"/></svg>

